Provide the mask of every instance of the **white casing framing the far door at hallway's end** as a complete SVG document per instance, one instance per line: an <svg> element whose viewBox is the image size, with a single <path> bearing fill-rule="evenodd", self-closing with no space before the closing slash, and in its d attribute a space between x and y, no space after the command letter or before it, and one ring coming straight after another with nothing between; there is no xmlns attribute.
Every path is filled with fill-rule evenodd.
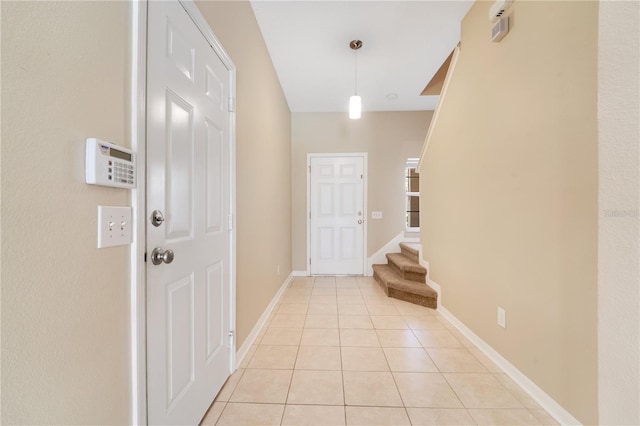
<svg viewBox="0 0 640 426"><path fill-rule="evenodd" d="M336 153L307 153L307 276L311 276L311 159L327 157L362 157L362 217L364 218L364 227L362 230L362 275L367 273L367 233L369 222L367 220L367 181L369 174L367 173L368 156L366 152L336 152Z"/></svg>

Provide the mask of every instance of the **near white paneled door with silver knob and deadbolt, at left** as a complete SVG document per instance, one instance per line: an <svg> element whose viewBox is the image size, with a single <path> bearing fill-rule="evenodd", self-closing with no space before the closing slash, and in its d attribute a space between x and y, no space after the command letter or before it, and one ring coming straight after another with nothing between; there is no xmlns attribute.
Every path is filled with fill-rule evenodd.
<svg viewBox="0 0 640 426"><path fill-rule="evenodd" d="M177 1L148 2L150 424L198 424L230 373L231 72Z"/></svg>

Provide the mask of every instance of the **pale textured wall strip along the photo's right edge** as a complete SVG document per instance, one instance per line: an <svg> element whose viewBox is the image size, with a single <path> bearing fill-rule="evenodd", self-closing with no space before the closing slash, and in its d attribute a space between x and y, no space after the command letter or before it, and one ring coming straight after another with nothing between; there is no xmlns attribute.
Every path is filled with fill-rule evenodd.
<svg viewBox="0 0 640 426"><path fill-rule="evenodd" d="M600 3L600 424L640 424L640 3Z"/></svg>

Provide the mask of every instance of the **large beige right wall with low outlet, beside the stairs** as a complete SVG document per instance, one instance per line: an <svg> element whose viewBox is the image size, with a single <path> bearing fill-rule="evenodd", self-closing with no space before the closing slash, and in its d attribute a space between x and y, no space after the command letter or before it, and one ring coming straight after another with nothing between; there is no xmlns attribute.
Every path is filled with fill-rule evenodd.
<svg viewBox="0 0 640 426"><path fill-rule="evenodd" d="M423 255L445 308L594 424L598 3L516 1L500 43L490 5L462 22L421 167Z"/></svg>

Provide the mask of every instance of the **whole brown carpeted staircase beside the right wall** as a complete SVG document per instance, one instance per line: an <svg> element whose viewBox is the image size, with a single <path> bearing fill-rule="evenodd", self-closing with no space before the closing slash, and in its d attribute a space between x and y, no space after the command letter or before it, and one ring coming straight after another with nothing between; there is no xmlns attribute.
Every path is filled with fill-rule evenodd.
<svg viewBox="0 0 640 426"><path fill-rule="evenodd" d="M426 276L418 248L409 243L400 243L400 253L387 253L386 265L373 265L373 278L387 296L435 309L438 293L426 284Z"/></svg>

